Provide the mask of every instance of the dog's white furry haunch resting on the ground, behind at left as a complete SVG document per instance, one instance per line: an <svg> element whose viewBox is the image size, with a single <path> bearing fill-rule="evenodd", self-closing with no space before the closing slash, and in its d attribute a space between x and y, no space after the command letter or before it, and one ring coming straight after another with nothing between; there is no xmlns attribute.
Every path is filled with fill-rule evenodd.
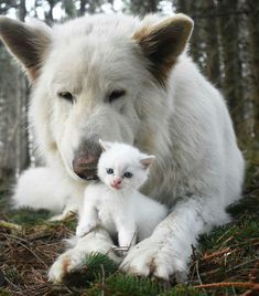
<svg viewBox="0 0 259 296"><path fill-rule="evenodd" d="M73 191L69 182L53 169L31 168L19 178L12 204L14 208L46 209L56 213L51 221L64 220L78 211L83 190L77 191Z"/></svg>

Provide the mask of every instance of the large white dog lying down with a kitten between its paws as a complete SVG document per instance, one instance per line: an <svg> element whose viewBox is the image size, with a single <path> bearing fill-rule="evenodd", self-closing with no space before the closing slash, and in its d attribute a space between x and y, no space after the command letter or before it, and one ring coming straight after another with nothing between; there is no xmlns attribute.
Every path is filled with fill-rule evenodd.
<svg viewBox="0 0 259 296"><path fill-rule="evenodd" d="M61 218L76 210L95 178L99 138L155 155L142 191L171 214L121 267L179 281L198 235L228 221L225 209L244 179L225 102L185 53L192 29L183 14L87 15L53 29L0 18L0 36L32 83L30 121L46 161L24 172L14 202L64 208ZM62 281L90 252L115 258L111 246L104 229L90 232L57 258L50 278Z"/></svg>

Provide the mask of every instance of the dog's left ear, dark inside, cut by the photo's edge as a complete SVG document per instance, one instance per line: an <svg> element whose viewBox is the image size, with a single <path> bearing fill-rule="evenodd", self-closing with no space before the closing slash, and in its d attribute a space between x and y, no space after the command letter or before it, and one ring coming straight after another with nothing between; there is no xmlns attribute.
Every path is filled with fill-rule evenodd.
<svg viewBox="0 0 259 296"><path fill-rule="evenodd" d="M0 39L23 65L31 82L37 77L50 45L50 31L47 25L40 22L32 27L0 17Z"/></svg>

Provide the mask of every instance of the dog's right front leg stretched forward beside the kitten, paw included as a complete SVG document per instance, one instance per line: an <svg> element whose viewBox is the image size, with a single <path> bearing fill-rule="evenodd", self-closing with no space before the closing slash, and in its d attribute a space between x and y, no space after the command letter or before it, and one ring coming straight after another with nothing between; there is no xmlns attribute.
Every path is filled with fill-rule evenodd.
<svg viewBox="0 0 259 296"><path fill-rule="evenodd" d="M177 204L150 237L131 249L121 268L131 274L164 279L174 275L177 282L183 282L192 245L196 245L198 235L227 221L227 213L218 209L213 200L192 197Z"/></svg>

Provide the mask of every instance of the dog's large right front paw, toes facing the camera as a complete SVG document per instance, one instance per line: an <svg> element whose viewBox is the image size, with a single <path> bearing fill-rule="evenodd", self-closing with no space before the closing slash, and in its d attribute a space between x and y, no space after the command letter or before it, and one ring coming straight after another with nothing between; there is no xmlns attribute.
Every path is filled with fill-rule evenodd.
<svg viewBox="0 0 259 296"><path fill-rule="evenodd" d="M154 276L169 281L174 275L176 281L186 279L186 260L163 242L145 239L134 245L120 265L121 269L136 275Z"/></svg>

